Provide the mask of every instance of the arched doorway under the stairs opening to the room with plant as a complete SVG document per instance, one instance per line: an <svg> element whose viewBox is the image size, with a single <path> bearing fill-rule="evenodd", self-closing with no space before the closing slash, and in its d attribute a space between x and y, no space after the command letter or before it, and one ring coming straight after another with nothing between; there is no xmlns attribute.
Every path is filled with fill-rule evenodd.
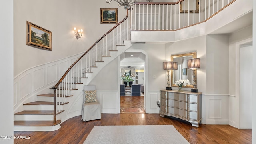
<svg viewBox="0 0 256 144"><path fill-rule="evenodd" d="M146 54L143 50L127 50L120 55L120 76L127 76L133 79L132 84L136 85L139 92L132 90L135 86L125 87L125 93L120 94L120 113L145 113L145 84L146 84ZM120 84L127 84L120 80ZM127 85L125 85L127 86ZM127 90L129 89L129 90ZM121 90L122 91L122 90ZM133 93L134 92L134 93Z"/></svg>

